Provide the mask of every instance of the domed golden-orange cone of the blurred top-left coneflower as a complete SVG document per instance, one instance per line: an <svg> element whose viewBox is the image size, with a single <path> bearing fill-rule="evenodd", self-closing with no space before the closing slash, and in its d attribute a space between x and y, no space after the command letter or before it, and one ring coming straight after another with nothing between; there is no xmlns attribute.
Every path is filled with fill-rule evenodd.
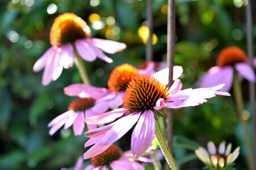
<svg viewBox="0 0 256 170"><path fill-rule="evenodd" d="M90 27L86 22L79 16L67 12L54 19L50 41L53 46L60 46L90 36Z"/></svg>

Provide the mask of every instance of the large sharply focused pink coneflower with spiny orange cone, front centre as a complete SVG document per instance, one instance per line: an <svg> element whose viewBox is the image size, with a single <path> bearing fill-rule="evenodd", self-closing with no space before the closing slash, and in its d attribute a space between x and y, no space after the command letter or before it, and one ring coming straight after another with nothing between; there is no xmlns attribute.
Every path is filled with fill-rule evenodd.
<svg viewBox="0 0 256 170"><path fill-rule="evenodd" d="M211 88L181 90L181 80L175 80L168 89L153 76L142 74L129 82L123 99L123 108L86 118L87 124L107 124L87 131L83 135L89 137L85 147L92 146L84 155L91 158L106 150L112 143L123 137L133 125L131 150L135 157L140 157L149 148L155 133L155 118L167 116L162 108L182 108L203 104L208 98L216 95L230 96L228 92L217 92L224 84Z"/></svg>

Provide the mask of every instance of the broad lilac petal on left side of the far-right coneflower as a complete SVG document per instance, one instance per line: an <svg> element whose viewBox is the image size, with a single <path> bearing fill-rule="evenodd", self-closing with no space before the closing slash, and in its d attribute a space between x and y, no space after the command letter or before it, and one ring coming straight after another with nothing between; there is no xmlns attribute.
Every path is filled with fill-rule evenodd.
<svg viewBox="0 0 256 170"><path fill-rule="evenodd" d="M200 79L201 87L212 87L219 84L225 84L220 91L230 91L233 82L233 68L232 66L212 67Z"/></svg>

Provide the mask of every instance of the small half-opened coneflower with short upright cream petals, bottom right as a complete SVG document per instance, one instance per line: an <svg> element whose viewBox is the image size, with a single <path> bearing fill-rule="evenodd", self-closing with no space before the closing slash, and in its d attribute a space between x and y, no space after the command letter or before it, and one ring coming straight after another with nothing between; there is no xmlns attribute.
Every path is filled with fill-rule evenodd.
<svg viewBox="0 0 256 170"><path fill-rule="evenodd" d="M203 147L199 147L195 150L195 154L209 169L228 169L240 154L240 147L231 153L232 144L228 143L226 146L225 141L220 143L218 151L212 141L207 143L207 147L208 152Z"/></svg>

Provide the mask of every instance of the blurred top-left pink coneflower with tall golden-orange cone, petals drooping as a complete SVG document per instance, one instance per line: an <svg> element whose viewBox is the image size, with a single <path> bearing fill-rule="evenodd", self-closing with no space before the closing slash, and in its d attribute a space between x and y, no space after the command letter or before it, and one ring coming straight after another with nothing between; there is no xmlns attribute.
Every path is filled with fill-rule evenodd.
<svg viewBox="0 0 256 170"><path fill-rule="evenodd" d="M91 38L90 27L84 20L73 13L64 13L54 20L50 32L52 47L37 59L33 71L44 68L42 84L44 86L55 81L63 68L69 69L74 64L74 49L85 61L94 61L96 57L112 62L103 52L114 54L126 48L124 43L111 40Z"/></svg>

